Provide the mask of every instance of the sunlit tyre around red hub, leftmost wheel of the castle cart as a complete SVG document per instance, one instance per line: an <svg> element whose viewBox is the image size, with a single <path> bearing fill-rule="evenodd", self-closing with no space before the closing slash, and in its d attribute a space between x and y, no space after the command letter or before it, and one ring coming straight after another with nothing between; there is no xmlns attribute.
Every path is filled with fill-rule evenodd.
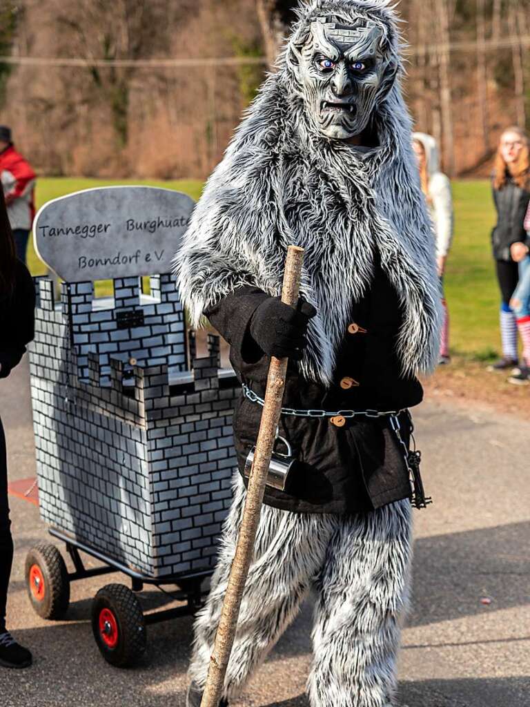
<svg viewBox="0 0 530 707"><path fill-rule="evenodd" d="M44 580L45 593L41 600L37 600L31 587L33 565L38 566ZM57 621L64 617L70 603L70 580L64 559L55 545L40 542L30 549L25 559L25 583L31 605L42 619Z"/></svg>

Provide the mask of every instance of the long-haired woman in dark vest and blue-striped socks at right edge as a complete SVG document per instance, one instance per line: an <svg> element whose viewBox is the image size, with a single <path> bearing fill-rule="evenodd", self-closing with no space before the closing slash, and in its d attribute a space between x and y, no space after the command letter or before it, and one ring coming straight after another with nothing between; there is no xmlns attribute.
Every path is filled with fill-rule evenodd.
<svg viewBox="0 0 530 707"><path fill-rule="evenodd" d="M500 136L493 173L493 200L497 223L491 242L501 293L502 358L491 368L509 370L518 364L517 322L510 299L519 280L518 263L528 252L523 221L530 201L529 138L518 127L507 128Z"/></svg>

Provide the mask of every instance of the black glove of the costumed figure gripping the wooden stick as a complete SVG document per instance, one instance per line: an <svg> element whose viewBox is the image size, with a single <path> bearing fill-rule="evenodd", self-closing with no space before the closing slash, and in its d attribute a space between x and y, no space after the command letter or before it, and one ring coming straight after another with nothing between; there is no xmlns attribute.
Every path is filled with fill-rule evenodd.
<svg viewBox="0 0 530 707"><path fill-rule="evenodd" d="M317 310L305 300L293 309L279 297L269 297L252 315L250 335L267 356L299 361L307 346L307 325L316 314Z"/></svg>

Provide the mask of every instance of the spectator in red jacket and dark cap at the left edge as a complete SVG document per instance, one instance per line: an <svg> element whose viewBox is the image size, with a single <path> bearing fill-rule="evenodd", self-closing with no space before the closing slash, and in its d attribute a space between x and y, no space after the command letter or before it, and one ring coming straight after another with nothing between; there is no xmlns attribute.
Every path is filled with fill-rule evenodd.
<svg viewBox="0 0 530 707"><path fill-rule="evenodd" d="M28 160L18 153L11 139L11 128L0 125L0 180L4 189L7 213L16 255L23 263L35 216L35 172Z"/></svg>

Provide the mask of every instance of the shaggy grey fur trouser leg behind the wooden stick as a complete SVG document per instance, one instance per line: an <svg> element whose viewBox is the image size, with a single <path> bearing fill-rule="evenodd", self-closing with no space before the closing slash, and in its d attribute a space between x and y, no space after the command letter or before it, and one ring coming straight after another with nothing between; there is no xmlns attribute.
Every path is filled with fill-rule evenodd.
<svg viewBox="0 0 530 707"><path fill-rule="evenodd" d="M211 592L197 615L189 676L204 687L213 641L235 553L245 486L239 474ZM237 633L225 678L225 697L235 696L295 618L322 568L334 516L295 514L263 506L254 559L245 585Z"/></svg>

